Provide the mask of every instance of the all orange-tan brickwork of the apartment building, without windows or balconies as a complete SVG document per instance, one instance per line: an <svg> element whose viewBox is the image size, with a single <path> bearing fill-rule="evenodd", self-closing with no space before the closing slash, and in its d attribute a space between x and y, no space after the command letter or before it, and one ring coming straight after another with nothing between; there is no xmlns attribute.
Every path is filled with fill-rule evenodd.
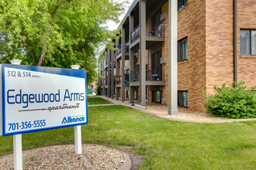
<svg viewBox="0 0 256 170"><path fill-rule="evenodd" d="M168 2L161 7L161 12L165 14L162 56L166 58L162 64L165 81L162 97L168 104ZM255 16L256 0L237 0L237 81L244 80L247 87L256 85L256 56L240 55L240 29L256 30ZM149 19L147 31L150 24ZM178 62L178 90L188 90L189 107L179 109L206 112L202 91L216 93L214 86L234 82L234 0L188 0L188 5L178 11L178 40L184 38L188 39L188 59ZM151 55L151 49L147 50L146 57ZM140 64L139 53L137 57ZM151 57L146 60L151 69ZM128 64L126 61L126 66ZM137 92L140 93L140 88ZM147 87L147 102L152 102L152 87Z"/></svg>

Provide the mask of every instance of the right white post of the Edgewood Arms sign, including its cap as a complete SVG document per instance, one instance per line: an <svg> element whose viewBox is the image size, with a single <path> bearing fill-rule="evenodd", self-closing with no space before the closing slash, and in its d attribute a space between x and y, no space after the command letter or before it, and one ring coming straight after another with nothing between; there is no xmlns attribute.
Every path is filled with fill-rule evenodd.
<svg viewBox="0 0 256 170"><path fill-rule="evenodd" d="M72 65L71 68L79 70L79 65ZM74 126L74 151L76 155L81 154L81 125Z"/></svg>

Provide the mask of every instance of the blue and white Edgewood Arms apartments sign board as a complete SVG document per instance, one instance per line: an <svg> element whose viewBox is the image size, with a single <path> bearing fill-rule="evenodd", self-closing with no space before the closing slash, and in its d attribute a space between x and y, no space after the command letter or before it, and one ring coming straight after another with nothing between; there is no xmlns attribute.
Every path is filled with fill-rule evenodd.
<svg viewBox="0 0 256 170"><path fill-rule="evenodd" d="M86 71L0 65L0 135L88 123Z"/></svg>

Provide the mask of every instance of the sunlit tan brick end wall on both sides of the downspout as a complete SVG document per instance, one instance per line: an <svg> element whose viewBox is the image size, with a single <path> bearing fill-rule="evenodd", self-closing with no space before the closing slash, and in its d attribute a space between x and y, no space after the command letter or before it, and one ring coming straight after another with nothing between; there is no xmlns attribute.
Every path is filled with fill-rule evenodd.
<svg viewBox="0 0 256 170"><path fill-rule="evenodd" d="M237 1L237 81L256 85L256 56L240 56L240 29L256 29L256 1ZM234 82L234 1L206 0L206 89Z"/></svg>

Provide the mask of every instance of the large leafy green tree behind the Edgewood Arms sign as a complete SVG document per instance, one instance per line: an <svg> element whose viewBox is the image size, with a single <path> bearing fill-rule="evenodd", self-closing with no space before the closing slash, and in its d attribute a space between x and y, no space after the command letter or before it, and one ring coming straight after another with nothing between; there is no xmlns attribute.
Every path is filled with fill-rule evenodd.
<svg viewBox="0 0 256 170"><path fill-rule="evenodd" d="M118 22L123 3L113 0L0 0L0 31L9 49L2 63L70 68L81 65L95 80L96 49L114 39L106 22ZM6 51L6 50L5 50Z"/></svg>

